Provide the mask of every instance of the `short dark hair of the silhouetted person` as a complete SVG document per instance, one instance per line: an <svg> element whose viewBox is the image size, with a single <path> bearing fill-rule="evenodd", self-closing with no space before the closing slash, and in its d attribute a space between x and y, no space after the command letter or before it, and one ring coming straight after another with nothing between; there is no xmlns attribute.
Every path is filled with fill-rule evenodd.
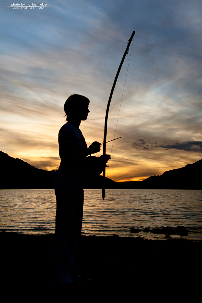
<svg viewBox="0 0 202 303"><path fill-rule="evenodd" d="M67 116L66 121L72 117L72 112L78 110L78 108L81 106L89 105L89 103L89 99L84 96L77 94L69 96L64 104L64 111Z"/></svg>

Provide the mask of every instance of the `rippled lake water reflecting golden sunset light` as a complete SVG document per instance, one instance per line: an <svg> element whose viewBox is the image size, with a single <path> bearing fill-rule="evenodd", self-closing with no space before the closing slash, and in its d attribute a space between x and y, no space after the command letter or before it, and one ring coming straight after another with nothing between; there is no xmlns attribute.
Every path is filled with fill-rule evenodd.
<svg viewBox="0 0 202 303"><path fill-rule="evenodd" d="M84 190L83 235L127 236L130 228L183 225L189 230L189 235L183 238L202 239L201 190L110 189L106 196L103 201L100 189ZM1 230L54 233L54 190L1 190L0 205ZM130 234L138 235L167 237L142 231Z"/></svg>

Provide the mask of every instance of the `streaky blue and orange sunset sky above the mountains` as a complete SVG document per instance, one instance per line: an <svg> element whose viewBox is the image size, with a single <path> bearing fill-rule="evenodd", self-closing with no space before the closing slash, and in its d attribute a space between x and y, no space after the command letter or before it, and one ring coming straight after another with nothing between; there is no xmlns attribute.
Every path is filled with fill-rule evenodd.
<svg viewBox="0 0 202 303"><path fill-rule="evenodd" d="M201 1L54 0L44 1L45 9L11 3L21 4L0 4L1 151L58 169L63 105L75 93L90 99L80 126L87 145L102 143L111 87L135 31L109 110L107 141L131 52L115 135L123 138L114 141L108 178L143 180L202 158Z"/></svg>

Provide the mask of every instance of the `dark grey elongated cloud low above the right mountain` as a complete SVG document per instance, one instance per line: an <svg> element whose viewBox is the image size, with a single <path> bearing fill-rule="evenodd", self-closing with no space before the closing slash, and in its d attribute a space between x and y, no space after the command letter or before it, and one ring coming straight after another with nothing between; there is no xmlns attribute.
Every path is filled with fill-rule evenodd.
<svg viewBox="0 0 202 303"><path fill-rule="evenodd" d="M127 141L127 143L130 142ZM194 140L190 140L182 143L176 142L171 145L158 145L157 142L150 142L150 141L145 141L143 139L138 139L136 140L136 142L131 142L131 145L137 149L155 149L157 147L162 147L166 149L202 152L202 141L194 141Z"/></svg>

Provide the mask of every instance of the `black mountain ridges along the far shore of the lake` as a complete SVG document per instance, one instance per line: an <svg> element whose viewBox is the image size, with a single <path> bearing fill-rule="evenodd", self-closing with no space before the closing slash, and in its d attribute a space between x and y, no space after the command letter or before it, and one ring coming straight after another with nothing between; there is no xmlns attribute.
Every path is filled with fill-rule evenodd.
<svg viewBox="0 0 202 303"><path fill-rule="evenodd" d="M46 171L0 151L0 189L53 189L55 170ZM115 182L102 176L86 176L86 189L200 189L202 159L144 181Z"/></svg>

